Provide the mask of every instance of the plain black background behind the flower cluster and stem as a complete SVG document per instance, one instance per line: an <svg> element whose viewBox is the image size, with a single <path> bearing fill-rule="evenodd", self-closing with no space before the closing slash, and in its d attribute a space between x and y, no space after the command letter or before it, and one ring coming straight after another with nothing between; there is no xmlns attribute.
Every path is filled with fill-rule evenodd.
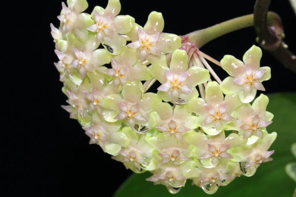
<svg viewBox="0 0 296 197"><path fill-rule="evenodd" d="M88 2L88 13L95 5L107 5L107 0ZM8 74L12 77L5 81L5 87L9 87L12 94L5 96L11 103L4 104L9 115L3 120L1 137L2 144L7 145L2 149L4 196L111 196L131 171L112 160L99 146L89 145L89 137L78 122L70 119L60 107L66 105L66 96L61 92L62 83L53 65L58 58L49 24L59 26L56 16L61 10L61 1L8 3L14 3L3 5L7 8L4 11L9 12L5 15L7 20L10 19L7 27L13 31L4 33L13 34L14 38L12 41L6 37L2 40L8 44L7 49L12 55L9 64L17 66L9 67L12 72ZM183 0L171 3L122 0L121 4L120 14L133 16L142 26L150 12L162 12L164 32L184 35L250 14L255 1ZM270 10L281 16L286 34L284 41L296 53L296 18L288 0L272 1ZM249 27L213 40L201 51L217 60L225 54L242 59L248 48L258 45L255 37L253 27ZM5 56L2 58L6 59ZM271 67L272 78L263 82L266 93L296 90L296 75L266 51L263 51L261 66ZM213 65L224 79L226 72L217 67Z"/></svg>

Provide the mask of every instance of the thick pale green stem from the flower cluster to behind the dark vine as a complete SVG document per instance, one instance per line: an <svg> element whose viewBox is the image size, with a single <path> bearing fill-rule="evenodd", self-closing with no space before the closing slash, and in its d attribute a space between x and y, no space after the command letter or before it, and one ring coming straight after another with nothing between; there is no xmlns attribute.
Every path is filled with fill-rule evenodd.
<svg viewBox="0 0 296 197"><path fill-rule="evenodd" d="M225 22L221 22L212 27L208 27L202 30L197 30L186 34L186 40L196 44L197 48L201 48L206 43L214 40L227 33L243 29L246 27L251 27L254 25L253 14L248 14L242 17L237 17ZM269 24L274 21L280 21L279 16L274 12L268 12L267 22Z"/></svg>

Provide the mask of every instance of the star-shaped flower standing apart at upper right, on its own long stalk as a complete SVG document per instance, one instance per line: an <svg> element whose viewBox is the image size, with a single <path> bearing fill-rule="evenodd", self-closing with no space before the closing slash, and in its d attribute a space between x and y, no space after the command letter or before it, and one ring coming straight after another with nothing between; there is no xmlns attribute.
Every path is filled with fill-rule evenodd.
<svg viewBox="0 0 296 197"><path fill-rule="evenodd" d="M239 99L248 103L251 102L257 90L265 90L262 83L270 79L270 68L260 67L262 51L253 45L243 56L243 61L234 56L226 55L221 60L221 66L230 75L221 83L224 94L238 93Z"/></svg>

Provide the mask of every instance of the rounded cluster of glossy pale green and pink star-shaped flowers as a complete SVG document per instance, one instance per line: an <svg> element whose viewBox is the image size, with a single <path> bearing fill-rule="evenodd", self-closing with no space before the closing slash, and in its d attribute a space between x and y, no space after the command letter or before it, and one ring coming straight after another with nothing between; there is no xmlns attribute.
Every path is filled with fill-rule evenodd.
<svg viewBox="0 0 296 197"><path fill-rule="evenodd" d="M60 27L51 24L51 33L68 97L62 107L90 144L127 169L150 171L147 180L171 193L187 179L215 193L271 160L276 133L266 127L273 115L267 96L255 99L270 78L270 68L260 67L260 48L252 46L243 62L224 56L221 66L230 76L220 85L179 49L179 36L163 32L161 13L151 12L141 27L118 15L119 0L81 13L87 7L86 0L62 3ZM146 92L157 81L158 91Z"/></svg>

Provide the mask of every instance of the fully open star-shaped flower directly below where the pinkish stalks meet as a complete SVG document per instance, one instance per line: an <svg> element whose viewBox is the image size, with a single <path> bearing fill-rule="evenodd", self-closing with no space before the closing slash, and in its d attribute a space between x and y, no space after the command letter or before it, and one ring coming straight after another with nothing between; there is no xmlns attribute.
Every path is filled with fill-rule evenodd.
<svg viewBox="0 0 296 197"><path fill-rule="evenodd" d="M198 96L195 88L198 84L207 82L210 78L209 71L197 66L188 66L186 51L177 49L172 54L170 67L161 64L152 64L150 74L162 85L158 87L158 95L165 101L176 101L181 98L190 100Z"/></svg>

